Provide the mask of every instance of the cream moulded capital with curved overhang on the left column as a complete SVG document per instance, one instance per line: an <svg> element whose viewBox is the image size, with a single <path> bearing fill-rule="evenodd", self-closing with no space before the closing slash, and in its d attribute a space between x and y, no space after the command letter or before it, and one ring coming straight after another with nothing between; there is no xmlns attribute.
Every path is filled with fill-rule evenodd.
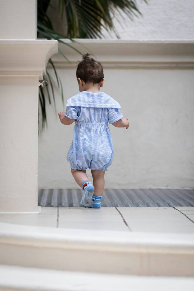
<svg viewBox="0 0 194 291"><path fill-rule="evenodd" d="M58 52L57 40L0 40L0 75L38 75L43 79L48 60Z"/></svg>

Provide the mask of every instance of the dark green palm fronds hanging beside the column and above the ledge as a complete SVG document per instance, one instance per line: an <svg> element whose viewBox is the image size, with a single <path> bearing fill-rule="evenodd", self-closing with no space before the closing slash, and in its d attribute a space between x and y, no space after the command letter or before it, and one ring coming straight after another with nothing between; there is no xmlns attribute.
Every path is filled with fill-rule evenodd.
<svg viewBox="0 0 194 291"><path fill-rule="evenodd" d="M146 0L144 1L147 3ZM58 42L69 46L81 55L82 53L78 49L74 48L69 43L65 43L62 39L67 38L70 39L72 42L76 42L76 38L101 38L104 37L103 33L101 32L102 27L104 27L108 33L110 33L109 31L112 30L115 33L116 37L119 38L119 35L116 33L111 18L111 15L114 15L115 13L115 9L118 11L118 13L120 13L120 11L124 12L131 20L134 16L141 14L139 9L137 8L135 1L130 0L56 0L56 3L59 4L59 14L61 13L61 18L64 16L66 17L68 26L67 35L63 35L54 30L53 23L47 13L49 7L55 9L55 7L50 4L50 0L38 0L38 37L39 35L42 35L44 38L47 39L56 39L58 40ZM82 44L79 43L79 45ZM84 47L84 45L82 46ZM60 49L58 49L58 52L69 62L67 57L62 53ZM56 77L58 89L60 90L64 105L64 95L61 79L57 74L57 70L55 69L53 61L51 59L49 59L49 63L54 70L54 75ZM42 132L42 130L45 128L45 125L47 126L45 104L46 98L48 98L49 104L52 104L49 91L50 89L52 92L54 108L56 111L54 97L55 81L47 70L46 76L43 76L43 79L49 83L49 87L39 87L39 132Z"/></svg>

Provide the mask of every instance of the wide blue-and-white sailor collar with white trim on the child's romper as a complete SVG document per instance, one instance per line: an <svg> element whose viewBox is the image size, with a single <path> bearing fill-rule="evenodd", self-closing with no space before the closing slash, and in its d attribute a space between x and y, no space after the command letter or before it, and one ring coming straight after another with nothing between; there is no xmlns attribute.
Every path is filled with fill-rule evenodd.
<svg viewBox="0 0 194 291"><path fill-rule="evenodd" d="M82 91L67 100L66 106L121 108L120 104L104 92Z"/></svg>

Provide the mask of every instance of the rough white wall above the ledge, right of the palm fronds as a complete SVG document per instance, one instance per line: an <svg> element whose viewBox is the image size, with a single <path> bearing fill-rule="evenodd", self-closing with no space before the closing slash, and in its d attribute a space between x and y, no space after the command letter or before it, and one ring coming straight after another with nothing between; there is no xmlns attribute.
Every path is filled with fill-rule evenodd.
<svg viewBox="0 0 194 291"><path fill-rule="evenodd" d="M193 0L136 0L142 13L133 17L133 22L121 12L113 16L113 23L121 39L158 40L194 39L194 1ZM119 19L119 22L116 20ZM105 38L115 38L114 33L102 32Z"/></svg>

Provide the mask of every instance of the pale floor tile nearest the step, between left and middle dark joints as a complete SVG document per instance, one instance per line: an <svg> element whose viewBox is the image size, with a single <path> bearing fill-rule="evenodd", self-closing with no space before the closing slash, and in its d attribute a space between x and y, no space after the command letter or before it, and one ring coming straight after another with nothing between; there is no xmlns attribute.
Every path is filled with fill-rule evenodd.
<svg viewBox="0 0 194 291"><path fill-rule="evenodd" d="M60 222L60 228L77 228L77 229L92 229L92 230L114 230L114 231L129 231L128 227L122 221L63 221Z"/></svg>

